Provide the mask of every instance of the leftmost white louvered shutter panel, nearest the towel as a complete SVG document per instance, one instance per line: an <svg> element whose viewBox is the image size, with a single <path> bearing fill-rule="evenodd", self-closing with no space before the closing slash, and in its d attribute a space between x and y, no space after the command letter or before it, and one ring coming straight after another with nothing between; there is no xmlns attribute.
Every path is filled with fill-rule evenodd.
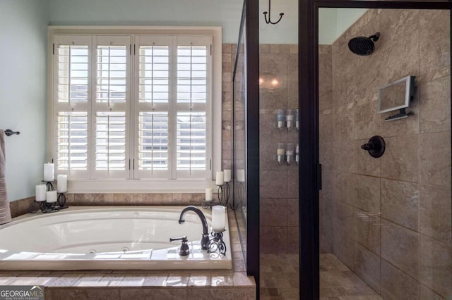
<svg viewBox="0 0 452 300"><path fill-rule="evenodd" d="M54 37L54 152L57 174L89 177L90 36Z"/></svg>

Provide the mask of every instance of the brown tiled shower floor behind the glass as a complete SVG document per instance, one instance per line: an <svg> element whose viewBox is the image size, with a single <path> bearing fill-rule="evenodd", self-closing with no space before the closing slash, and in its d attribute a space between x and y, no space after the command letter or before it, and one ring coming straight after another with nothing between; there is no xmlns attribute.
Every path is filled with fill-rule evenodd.
<svg viewBox="0 0 452 300"><path fill-rule="evenodd" d="M298 254L261 255L261 299L299 299ZM320 255L321 300L379 300L334 254Z"/></svg>

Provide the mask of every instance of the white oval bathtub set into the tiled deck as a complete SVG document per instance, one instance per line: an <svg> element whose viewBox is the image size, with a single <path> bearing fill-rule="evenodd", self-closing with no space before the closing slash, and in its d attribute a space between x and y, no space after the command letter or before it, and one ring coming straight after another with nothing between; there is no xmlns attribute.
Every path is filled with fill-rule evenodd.
<svg viewBox="0 0 452 300"><path fill-rule="evenodd" d="M0 270L231 269L229 231L225 256L201 250L198 215L183 206L71 207L36 213L0 226ZM200 208L211 225L210 209ZM179 256L186 236L189 256Z"/></svg>

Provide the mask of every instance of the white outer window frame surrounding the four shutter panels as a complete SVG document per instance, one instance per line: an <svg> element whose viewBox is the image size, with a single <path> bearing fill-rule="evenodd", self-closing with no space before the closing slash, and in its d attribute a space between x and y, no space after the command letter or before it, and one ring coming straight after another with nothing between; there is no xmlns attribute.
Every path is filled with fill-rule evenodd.
<svg viewBox="0 0 452 300"><path fill-rule="evenodd" d="M207 135L211 140L210 171L206 179L82 179L83 176L74 176L69 179L68 188L71 193L181 193L204 192L205 187L215 187L213 177L216 170L221 170L222 154L222 30L221 27L175 27L175 26L49 26L48 27L48 124L47 160L54 159L54 146L56 139L56 123L54 107L54 36L55 35L211 35L212 61L211 61L211 133ZM93 59L93 58L91 58ZM93 64L95 65L95 64ZM131 80L135 75L131 75ZM92 85L95 87L95 85ZM130 93L135 91L130 90ZM133 105L130 111L134 111ZM130 113L129 111L129 113ZM93 116L91 116L93 118ZM132 125L133 126L133 125ZM136 132L130 131L131 135ZM88 134L93 139L93 134ZM129 142L130 144L130 142ZM129 153L131 153L129 151ZM92 159L92 158L89 158ZM209 164L209 162L207 162ZM128 170L127 170L128 171Z"/></svg>

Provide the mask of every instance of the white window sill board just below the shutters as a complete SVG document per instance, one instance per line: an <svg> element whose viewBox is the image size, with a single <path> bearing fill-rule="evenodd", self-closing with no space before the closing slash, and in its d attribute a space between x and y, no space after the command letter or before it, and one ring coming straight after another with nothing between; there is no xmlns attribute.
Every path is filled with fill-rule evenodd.
<svg viewBox="0 0 452 300"><path fill-rule="evenodd" d="M215 187L212 180L69 180L74 194L97 193L204 193Z"/></svg>

